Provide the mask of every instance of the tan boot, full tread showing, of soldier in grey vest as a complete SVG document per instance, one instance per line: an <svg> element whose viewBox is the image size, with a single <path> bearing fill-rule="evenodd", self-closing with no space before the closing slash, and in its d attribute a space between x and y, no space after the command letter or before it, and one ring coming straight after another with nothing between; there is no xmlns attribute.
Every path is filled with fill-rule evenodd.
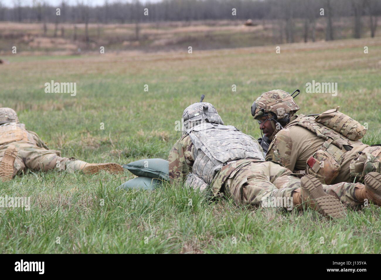
<svg viewBox="0 0 381 280"><path fill-rule="evenodd" d="M328 218L344 218L347 215L343 203L338 198L326 194L322 183L314 175L303 176L300 183L302 200L311 208Z"/></svg>

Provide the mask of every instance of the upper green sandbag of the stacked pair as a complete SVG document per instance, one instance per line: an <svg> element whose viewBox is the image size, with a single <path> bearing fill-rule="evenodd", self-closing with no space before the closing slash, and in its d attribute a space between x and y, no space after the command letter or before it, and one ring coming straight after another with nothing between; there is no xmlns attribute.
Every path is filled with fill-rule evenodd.
<svg viewBox="0 0 381 280"><path fill-rule="evenodd" d="M123 165L136 176L169 180L169 162L162 158L147 158Z"/></svg>

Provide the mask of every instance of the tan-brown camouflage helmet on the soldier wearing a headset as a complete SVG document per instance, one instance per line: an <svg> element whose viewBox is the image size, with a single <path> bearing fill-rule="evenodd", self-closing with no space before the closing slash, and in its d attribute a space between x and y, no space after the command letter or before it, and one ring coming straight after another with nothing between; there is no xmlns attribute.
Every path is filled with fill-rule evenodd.
<svg viewBox="0 0 381 280"><path fill-rule="evenodd" d="M294 98L283 90L271 90L262 93L251 106L251 115L256 119L261 115L273 113L278 120L289 118L297 110Z"/></svg>

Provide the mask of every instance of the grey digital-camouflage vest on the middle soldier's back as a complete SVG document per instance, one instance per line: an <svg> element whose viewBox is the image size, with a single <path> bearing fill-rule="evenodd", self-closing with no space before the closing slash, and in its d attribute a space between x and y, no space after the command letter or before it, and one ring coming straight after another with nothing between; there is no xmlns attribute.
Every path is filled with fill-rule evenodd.
<svg viewBox="0 0 381 280"><path fill-rule="evenodd" d="M192 172L211 184L219 170L228 162L243 158L264 161L259 145L231 125L201 123L186 131L194 144Z"/></svg>

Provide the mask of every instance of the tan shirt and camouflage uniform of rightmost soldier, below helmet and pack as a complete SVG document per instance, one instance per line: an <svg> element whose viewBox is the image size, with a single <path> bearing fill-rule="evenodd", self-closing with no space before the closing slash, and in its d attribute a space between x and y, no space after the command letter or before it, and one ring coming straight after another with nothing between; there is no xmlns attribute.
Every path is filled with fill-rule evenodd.
<svg viewBox="0 0 381 280"><path fill-rule="evenodd" d="M338 146L348 145L352 149L340 149L334 144L328 146L325 138L300 125L311 125L311 121L314 122L314 118L305 115L291 118L291 122L275 135L266 159L279 162L293 171L315 173L326 183L353 182L355 179L362 181L365 174L379 172L381 147L369 146L359 140L342 139L339 133L320 126L319 131L315 131L323 131L324 134L321 135L328 136L329 139L339 136L336 141Z"/></svg>

